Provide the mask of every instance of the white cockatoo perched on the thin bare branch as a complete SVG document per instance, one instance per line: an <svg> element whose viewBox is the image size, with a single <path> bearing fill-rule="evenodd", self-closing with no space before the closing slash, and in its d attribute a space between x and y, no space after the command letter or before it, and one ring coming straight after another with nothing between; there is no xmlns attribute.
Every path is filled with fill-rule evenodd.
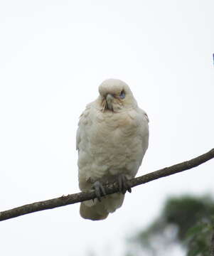
<svg viewBox="0 0 214 256"><path fill-rule="evenodd" d="M97 198L80 204L80 215L103 220L122 206L128 180L136 176L149 142L148 116L122 80L108 79L87 105L77 129L80 190ZM105 196L103 185L118 181L120 193ZM101 196L102 200L101 200Z"/></svg>

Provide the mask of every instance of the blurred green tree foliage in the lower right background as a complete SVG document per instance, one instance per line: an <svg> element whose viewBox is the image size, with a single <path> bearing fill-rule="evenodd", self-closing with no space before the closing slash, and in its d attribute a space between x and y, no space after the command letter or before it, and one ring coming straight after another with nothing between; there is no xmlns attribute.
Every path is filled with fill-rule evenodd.
<svg viewBox="0 0 214 256"><path fill-rule="evenodd" d="M214 201L209 196L169 198L159 217L146 230L129 238L126 256L166 255L167 250L179 245L186 256L213 256L213 216Z"/></svg>

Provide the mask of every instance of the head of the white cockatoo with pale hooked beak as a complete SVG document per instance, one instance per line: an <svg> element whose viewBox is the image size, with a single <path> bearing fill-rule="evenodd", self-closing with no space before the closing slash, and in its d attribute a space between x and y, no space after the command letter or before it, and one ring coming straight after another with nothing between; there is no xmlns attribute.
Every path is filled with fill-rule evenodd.
<svg viewBox="0 0 214 256"><path fill-rule="evenodd" d="M119 110L137 106L129 86L118 79L107 79L99 86L102 111L119 112Z"/></svg>

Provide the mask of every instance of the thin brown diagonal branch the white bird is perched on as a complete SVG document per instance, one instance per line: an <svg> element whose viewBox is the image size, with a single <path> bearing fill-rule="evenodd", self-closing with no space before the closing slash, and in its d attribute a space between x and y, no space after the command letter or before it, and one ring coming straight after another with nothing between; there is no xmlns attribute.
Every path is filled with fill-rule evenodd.
<svg viewBox="0 0 214 256"><path fill-rule="evenodd" d="M150 174L146 174L144 176L140 176L138 178L132 178L132 180L129 181L130 186L139 186L141 184L147 183L149 181L154 181L157 178L166 177L172 174L177 174L181 171L186 171L188 169L192 169L200 164L205 163L205 161L208 161L210 159L214 158L214 149L211 149L205 154L202 154L194 159L191 159L189 161L184 161L180 164L175 164L170 167L166 167L164 169L160 169L158 171L151 172ZM118 184L112 183L109 186L105 186L105 191L107 194L116 193L119 191ZM68 196L60 196L59 198L53 198L46 201L40 201L36 203L30 203L24 206L20 206L17 208L13 208L11 210L4 210L0 212L0 221L1 220L8 220L10 218L15 218L21 215L25 215L28 213L34 213L39 210L47 210L52 209L60 206L67 206L69 204L73 203L80 203L82 201L87 201L90 199L95 198L95 192L90 193L75 193L70 194Z"/></svg>

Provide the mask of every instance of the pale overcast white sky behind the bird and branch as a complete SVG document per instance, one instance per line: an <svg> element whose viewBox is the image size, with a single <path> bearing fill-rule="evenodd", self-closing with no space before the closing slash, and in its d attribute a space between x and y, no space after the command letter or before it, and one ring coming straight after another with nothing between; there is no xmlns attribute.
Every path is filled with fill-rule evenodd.
<svg viewBox="0 0 214 256"><path fill-rule="evenodd" d="M1 1L0 210L79 191L75 132L106 78L150 119L138 175L213 147L213 1ZM79 204L0 223L1 255L121 255L169 195L214 193L213 161L147 183L100 222ZM174 255L182 255L175 252Z"/></svg>

